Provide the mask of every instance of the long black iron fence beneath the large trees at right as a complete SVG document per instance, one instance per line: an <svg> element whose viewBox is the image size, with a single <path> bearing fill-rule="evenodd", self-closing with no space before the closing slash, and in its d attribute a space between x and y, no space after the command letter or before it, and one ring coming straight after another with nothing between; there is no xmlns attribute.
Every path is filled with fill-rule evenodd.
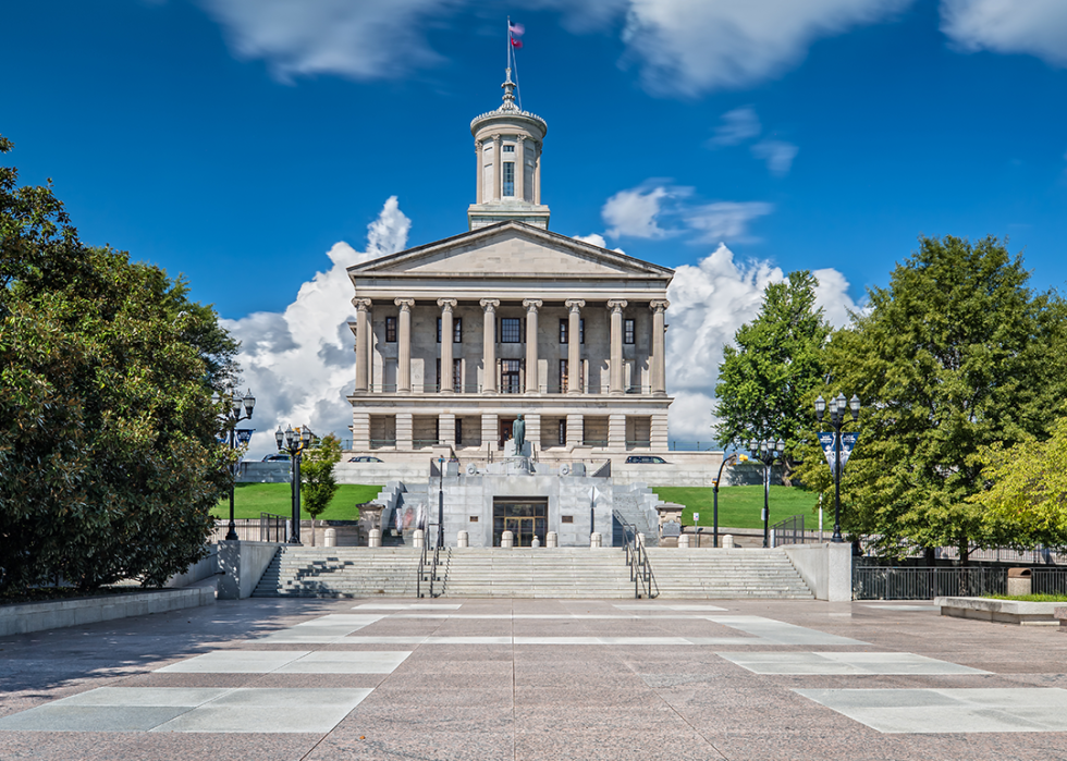
<svg viewBox="0 0 1067 761"><path fill-rule="evenodd" d="M960 568L853 567L855 600L932 600L935 597L1006 594L1008 569L973 566ZM1067 594L1067 569L1032 568L1031 592Z"/></svg>

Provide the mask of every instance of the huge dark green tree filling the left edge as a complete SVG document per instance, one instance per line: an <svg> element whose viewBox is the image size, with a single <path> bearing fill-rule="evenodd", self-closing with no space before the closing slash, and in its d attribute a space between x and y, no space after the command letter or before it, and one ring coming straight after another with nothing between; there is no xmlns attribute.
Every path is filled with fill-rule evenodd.
<svg viewBox="0 0 1067 761"><path fill-rule="evenodd" d="M211 393L236 343L16 180L0 168L0 588L159 585L203 555L228 489Z"/></svg>

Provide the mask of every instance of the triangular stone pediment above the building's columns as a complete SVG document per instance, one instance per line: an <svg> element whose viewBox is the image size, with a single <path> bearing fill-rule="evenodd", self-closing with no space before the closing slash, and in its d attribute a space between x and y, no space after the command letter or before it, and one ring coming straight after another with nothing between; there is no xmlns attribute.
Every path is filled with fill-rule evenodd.
<svg viewBox="0 0 1067 761"><path fill-rule="evenodd" d="M348 268L360 275L665 278L634 257L516 221L506 221Z"/></svg>

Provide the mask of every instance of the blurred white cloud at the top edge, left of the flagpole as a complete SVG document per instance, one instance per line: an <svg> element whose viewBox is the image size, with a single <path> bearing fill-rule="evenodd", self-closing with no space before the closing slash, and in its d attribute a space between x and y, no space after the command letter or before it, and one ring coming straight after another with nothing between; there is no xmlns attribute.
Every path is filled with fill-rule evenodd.
<svg viewBox="0 0 1067 761"><path fill-rule="evenodd" d="M203 0L243 59L267 61L282 82L340 74L396 78L443 59L426 41L427 20L454 0Z"/></svg>

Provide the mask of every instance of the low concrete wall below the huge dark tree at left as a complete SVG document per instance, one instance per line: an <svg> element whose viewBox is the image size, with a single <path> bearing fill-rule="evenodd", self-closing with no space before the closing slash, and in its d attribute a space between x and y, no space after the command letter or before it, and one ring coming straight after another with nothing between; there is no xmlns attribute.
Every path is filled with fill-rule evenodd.
<svg viewBox="0 0 1067 761"><path fill-rule="evenodd" d="M214 602L213 587L125 592L82 600L27 602L0 606L0 637L64 626L82 626L128 616L164 613Z"/></svg>

